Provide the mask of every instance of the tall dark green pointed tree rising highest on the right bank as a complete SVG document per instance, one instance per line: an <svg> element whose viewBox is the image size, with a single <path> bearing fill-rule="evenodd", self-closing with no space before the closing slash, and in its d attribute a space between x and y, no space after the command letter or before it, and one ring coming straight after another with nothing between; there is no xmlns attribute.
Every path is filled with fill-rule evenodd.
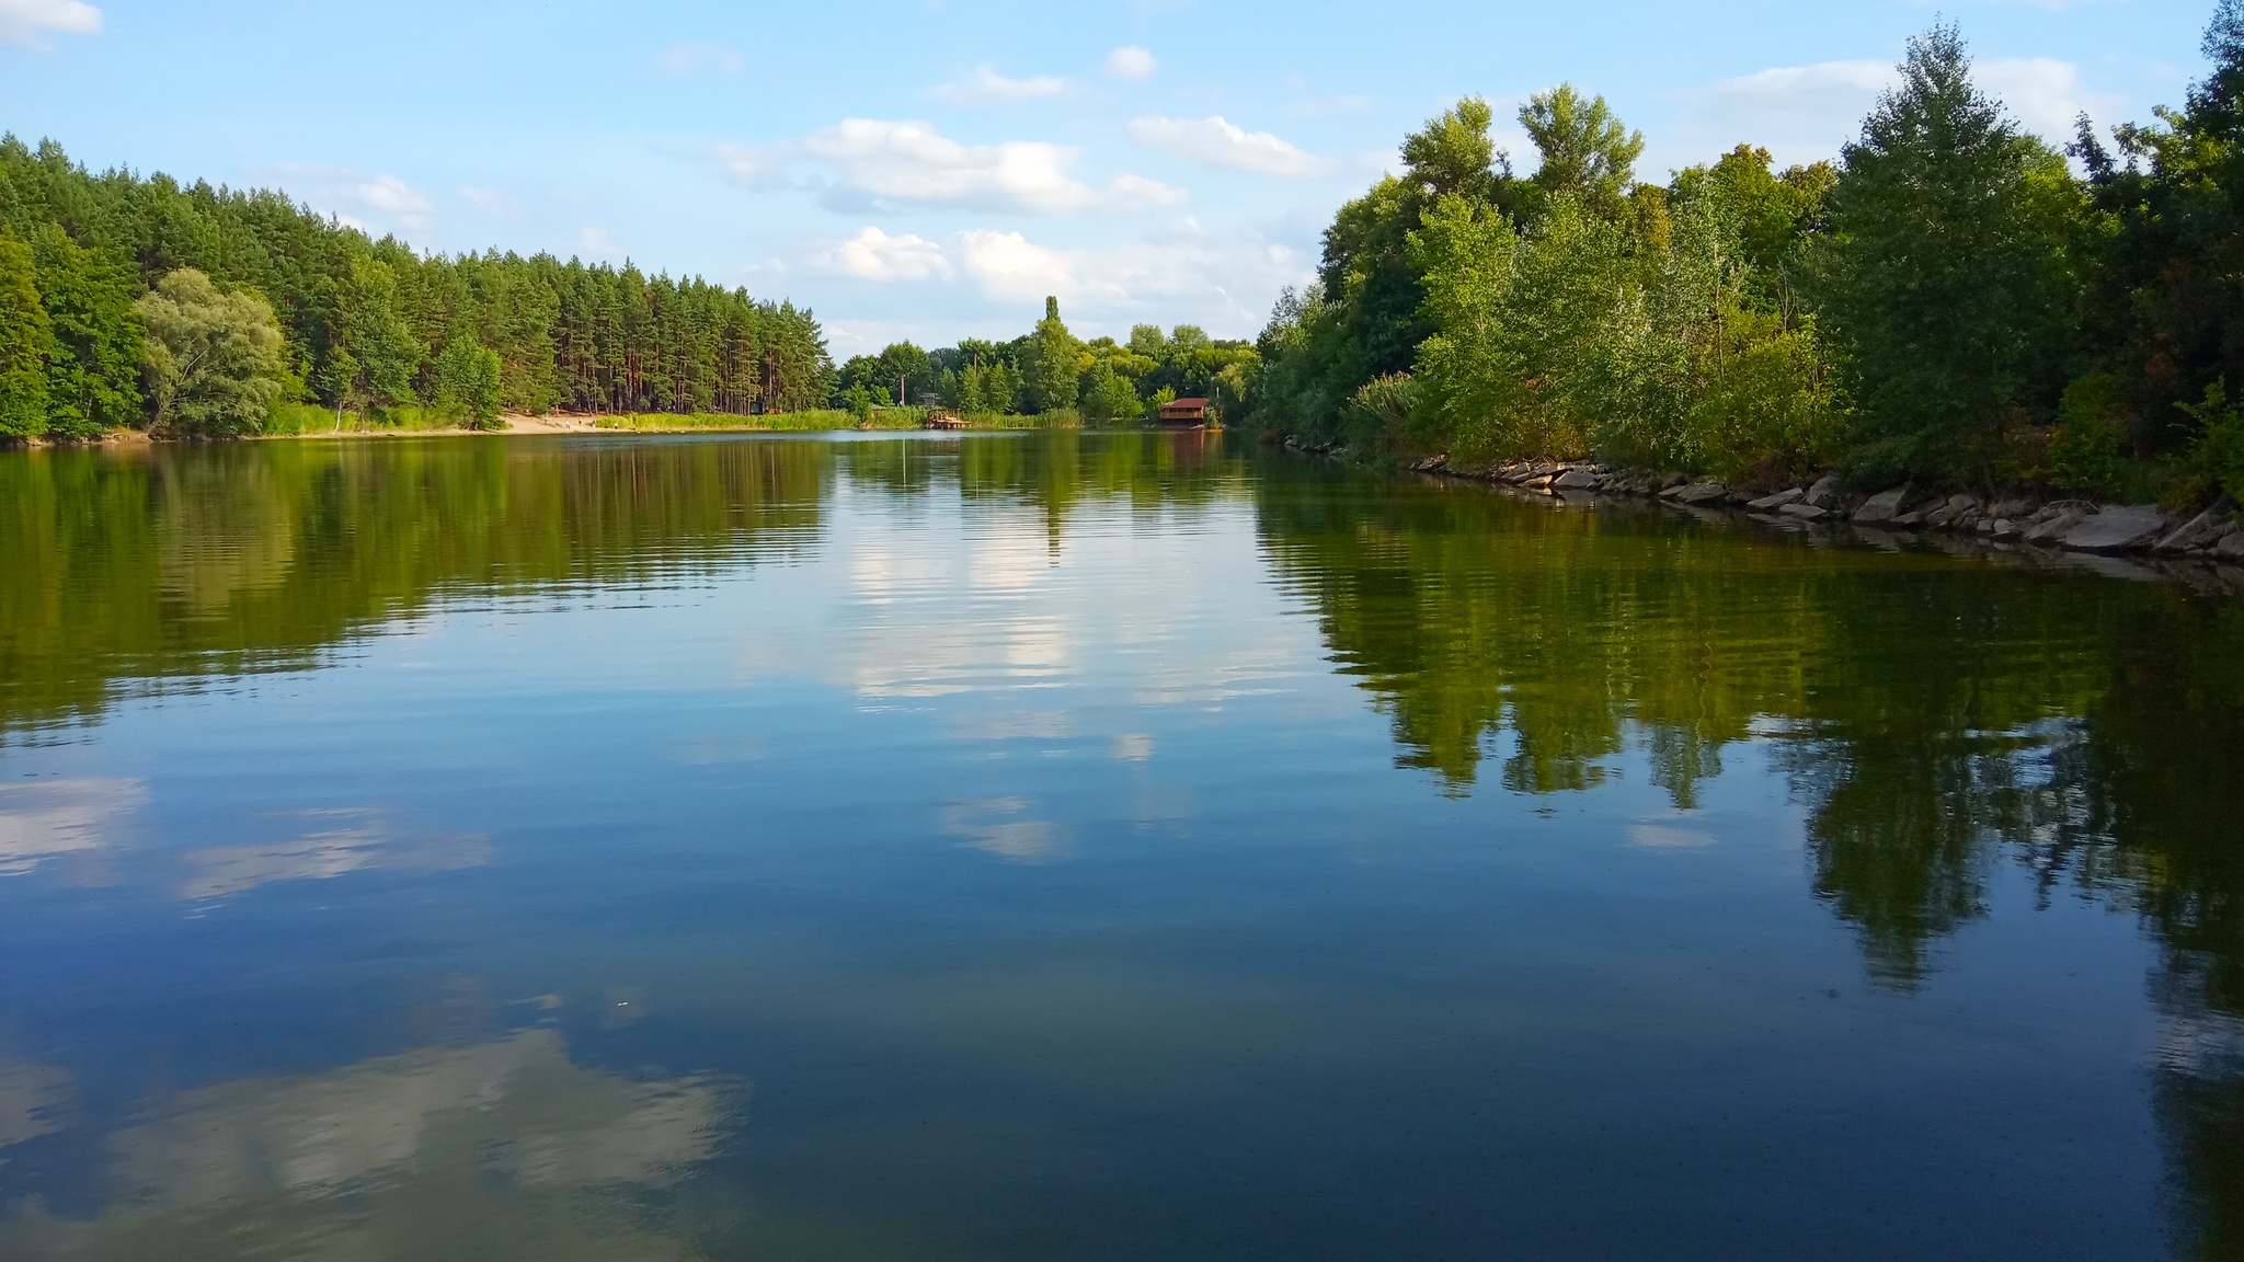
<svg viewBox="0 0 2244 1262"><path fill-rule="evenodd" d="M1820 252L1849 465L1986 483L2015 418L2069 379L2078 189L1972 85L1955 27L1910 40L1901 74L1845 150Z"/></svg>

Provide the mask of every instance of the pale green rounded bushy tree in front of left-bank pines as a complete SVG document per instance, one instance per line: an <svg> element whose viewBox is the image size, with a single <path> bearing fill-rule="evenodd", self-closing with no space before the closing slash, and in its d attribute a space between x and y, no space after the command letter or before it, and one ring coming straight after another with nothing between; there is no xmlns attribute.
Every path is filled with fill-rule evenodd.
<svg viewBox="0 0 2244 1262"><path fill-rule="evenodd" d="M256 433L289 393L280 326L272 303L222 292L182 267L135 303L146 326L148 393L157 429Z"/></svg>

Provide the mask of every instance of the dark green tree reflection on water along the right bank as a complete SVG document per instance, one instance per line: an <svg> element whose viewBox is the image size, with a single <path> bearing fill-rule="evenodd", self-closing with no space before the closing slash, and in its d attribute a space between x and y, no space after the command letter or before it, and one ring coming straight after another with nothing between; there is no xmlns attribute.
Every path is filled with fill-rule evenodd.
<svg viewBox="0 0 2244 1262"><path fill-rule="evenodd" d="M1275 476L1261 528L1403 766L1569 793L1643 741L1692 808L1762 734L1809 891L1914 988L1997 862L2163 945L2161 1123L2197 1258L2244 1258L2244 602L2004 559Z"/></svg>

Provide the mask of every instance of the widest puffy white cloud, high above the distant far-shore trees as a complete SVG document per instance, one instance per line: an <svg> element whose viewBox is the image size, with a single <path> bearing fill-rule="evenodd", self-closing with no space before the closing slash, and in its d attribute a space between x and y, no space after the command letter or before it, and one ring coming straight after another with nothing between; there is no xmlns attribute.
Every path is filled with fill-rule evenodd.
<svg viewBox="0 0 2244 1262"><path fill-rule="evenodd" d="M785 186L815 171L828 204L951 204L994 211L1138 211L1185 200L1142 175L1120 175L1104 191L1068 175L1077 150L1043 141L958 144L929 124L844 119L779 146L716 146L734 177L752 186ZM812 177L812 186L819 186Z"/></svg>

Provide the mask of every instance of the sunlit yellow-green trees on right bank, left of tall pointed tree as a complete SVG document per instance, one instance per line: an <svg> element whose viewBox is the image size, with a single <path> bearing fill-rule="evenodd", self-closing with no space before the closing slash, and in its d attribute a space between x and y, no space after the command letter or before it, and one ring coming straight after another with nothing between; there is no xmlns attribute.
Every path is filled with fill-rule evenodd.
<svg viewBox="0 0 2244 1262"><path fill-rule="evenodd" d="M1409 436L1465 460L1582 456L1744 478L1809 472L1838 397L1813 321L1759 310L1730 207L1699 191L1658 236L1555 198L1519 234L1445 200L1414 236L1441 332Z"/></svg>

